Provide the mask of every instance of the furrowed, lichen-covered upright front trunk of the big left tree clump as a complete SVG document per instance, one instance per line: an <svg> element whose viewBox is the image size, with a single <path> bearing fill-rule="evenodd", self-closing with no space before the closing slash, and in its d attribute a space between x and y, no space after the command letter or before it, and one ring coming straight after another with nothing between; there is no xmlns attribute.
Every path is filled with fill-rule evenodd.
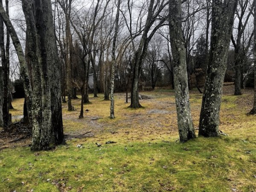
<svg viewBox="0 0 256 192"><path fill-rule="evenodd" d="M42 19L41 0L23 0L22 7L26 19L27 40L30 50L28 60L32 64L32 145L38 151L48 149L52 139L52 112L49 66L47 64L45 21ZM49 27L48 25L45 27Z"/></svg>

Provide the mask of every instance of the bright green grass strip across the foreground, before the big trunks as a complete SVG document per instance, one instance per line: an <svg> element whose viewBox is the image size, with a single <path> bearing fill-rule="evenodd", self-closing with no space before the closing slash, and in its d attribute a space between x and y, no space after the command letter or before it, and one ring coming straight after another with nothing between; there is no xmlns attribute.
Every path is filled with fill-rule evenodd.
<svg viewBox="0 0 256 192"><path fill-rule="evenodd" d="M97 147L88 139L72 140L54 151L3 150L1 191L255 190L255 140L221 137L183 144L169 141ZM78 143L83 148L77 148Z"/></svg>

